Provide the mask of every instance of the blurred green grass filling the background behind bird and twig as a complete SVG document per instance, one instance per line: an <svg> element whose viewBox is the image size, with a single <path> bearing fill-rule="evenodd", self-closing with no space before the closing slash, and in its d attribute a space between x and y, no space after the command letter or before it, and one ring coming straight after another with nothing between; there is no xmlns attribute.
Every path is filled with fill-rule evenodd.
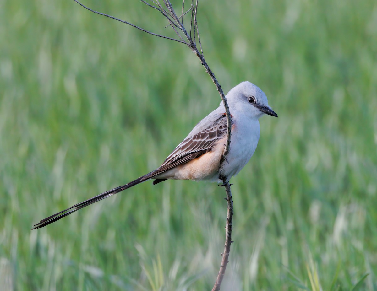
<svg viewBox="0 0 377 291"><path fill-rule="evenodd" d="M173 36L139 1L84 3ZM279 115L231 180L221 289L377 290L377 2L201 1L198 22L224 91L251 81ZM156 168L219 102L182 44L73 1L0 1L0 289L211 289L216 184L149 181L30 229Z"/></svg>

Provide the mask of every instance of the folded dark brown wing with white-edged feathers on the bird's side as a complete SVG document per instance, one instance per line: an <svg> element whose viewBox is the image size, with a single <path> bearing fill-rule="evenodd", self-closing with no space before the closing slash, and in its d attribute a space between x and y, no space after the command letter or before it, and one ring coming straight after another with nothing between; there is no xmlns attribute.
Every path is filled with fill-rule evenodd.
<svg viewBox="0 0 377 291"><path fill-rule="evenodd" d="M190 136L182 141L178 147L166 158L162 165L146 175L144 179L150 179L171 168L187 163L209 152L218 139L227 133L227 118L225 114L219 115L215 122L205 130Z"/></svg>

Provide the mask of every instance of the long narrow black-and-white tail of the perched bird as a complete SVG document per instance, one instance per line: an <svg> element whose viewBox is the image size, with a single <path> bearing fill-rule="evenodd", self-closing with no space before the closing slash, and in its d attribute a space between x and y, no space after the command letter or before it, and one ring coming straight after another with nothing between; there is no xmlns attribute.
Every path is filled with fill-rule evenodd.
<svg viewBox="0 0 377 291"><path fill-rule="evenodd" d="M151 173L153 173L153 172L151 172ZM85 200L83 202L80 202L80 203L78 203L76 205L73 205L72 207L69 207L69 208L67 208L67 209L65 209L63 211L55 213L54 215L51 215L51 216L49 216L49 217L47 217L45 219L42 219L37 224L33 225L32 230L36 229L36 228L44 227L44 226L46 226L46 225L48 225L48 224L50 224L52 222L58 221L59 219L63 218L64 216L67 216L67 215L69 215L71 213L74 213L77 210L80 210L81 208L87 207L90 204L93 204L93 203L95 203L97 201L100 201L100 200L105 199L105 198L107 198L109 196L112 196L112 195L114 195L116 193L119 193L120 191L123 191L123 190L125 190L127 188L130 188L132 186L135 186L136 184L139 184L141 182L147 181L148 179L152 178L150 176L151 173L149 173L147 175L144 175L144 176L141 176L140 178L138 178L136 180L133 180L132 182L129 182L126 185L119 186L119 187L116 187L116 188L111 189L109 191L106 191L104 193L101 193L100 195L94 196L94 197L92 197L90 199L87 199L87 200Z"/></svg>

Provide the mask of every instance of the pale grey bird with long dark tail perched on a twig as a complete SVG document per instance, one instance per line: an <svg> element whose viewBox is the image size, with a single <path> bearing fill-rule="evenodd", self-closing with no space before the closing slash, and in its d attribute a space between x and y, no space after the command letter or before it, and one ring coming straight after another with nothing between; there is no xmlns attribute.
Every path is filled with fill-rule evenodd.
<svg viewBox="0 0 377 291"><path fill-rule="evenodd" d="M32 229L49 225L81 208L150 179L154 179L153 185L167 179L229 182L230 178L237 175L247 164L256 150L260 134L259 118L264 114L277 117L277 114L268 106L265 93L248 81L233 87L225 97L231 114L231 142L225 158L222 157L227 141L227 117L221 101L217 109L196 124L160 167L125 185L55 213L33 225Z"/></svg>

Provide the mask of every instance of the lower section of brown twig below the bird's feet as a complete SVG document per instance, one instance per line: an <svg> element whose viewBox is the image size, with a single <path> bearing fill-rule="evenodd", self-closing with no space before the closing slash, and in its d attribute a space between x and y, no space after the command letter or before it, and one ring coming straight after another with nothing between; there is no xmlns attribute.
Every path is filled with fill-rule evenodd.
<svg viewBox="0 0 377 291"><path fill-rule="evenodd" d="M220 290L220 285L221 285L222 279L224 278L225 270L227 269L228 257L230 253L230 245L232 243L233 198L232 198L232 192L230 191L230 184L226 182L225 178L222 180L222 182L224 183L225 191L227 192L227 198L225 198L225 200L228 202L227 224L225 226L225 245L224 245L224 253L222 253L220 271L217 275L217 279L216 279L215 285L212 288L212 291Z"/></svg>

